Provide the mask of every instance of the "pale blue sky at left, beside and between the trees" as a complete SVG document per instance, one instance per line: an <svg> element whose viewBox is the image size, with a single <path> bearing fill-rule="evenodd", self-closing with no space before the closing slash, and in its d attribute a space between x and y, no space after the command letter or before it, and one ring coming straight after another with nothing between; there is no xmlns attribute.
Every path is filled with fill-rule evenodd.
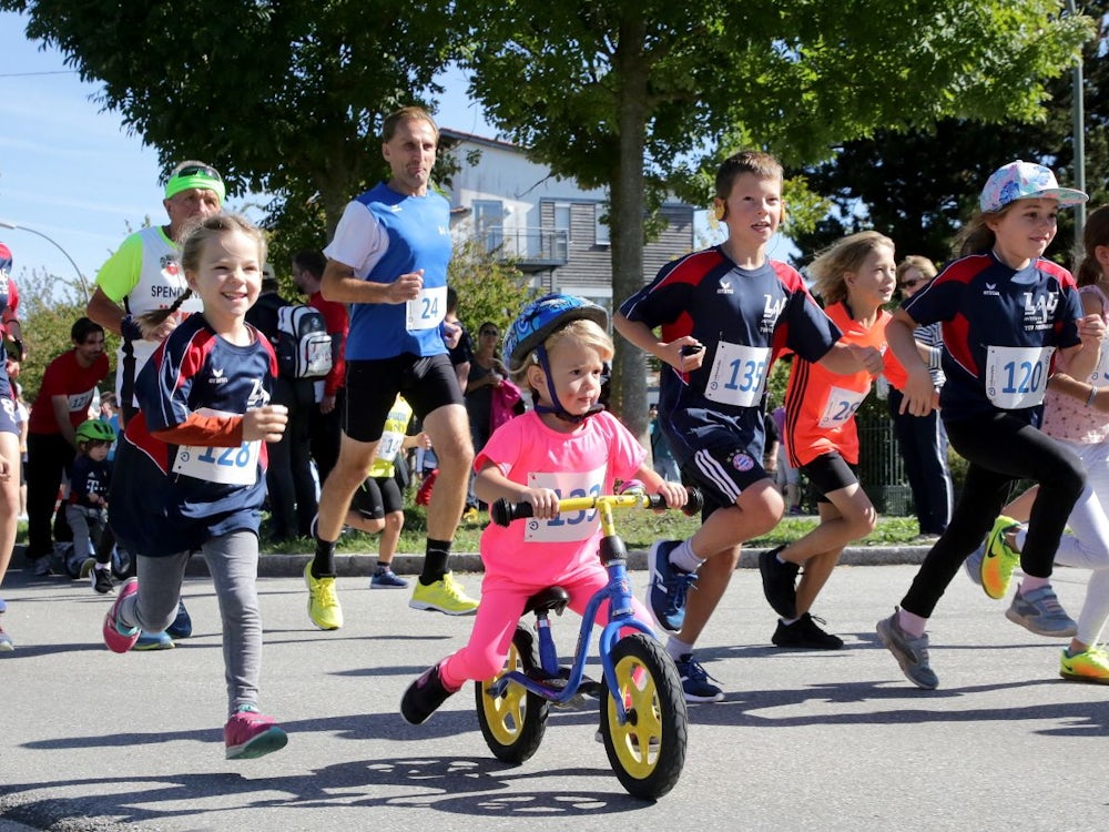
<svg viewBox="0 0 1109 832"><path fill-rule="evenodd" d="M26 26L26 16L0 12L0 222L45 234L57 246L4 227L0 242L11 248L17 282L24 268L67 281L79 270L91 286L129 231L146 216L165 220L161 166L152 148L128 134L122 116L101 111L93 100L99 87L83 83L58 50L29 41ZM440 125L495 136L466 99L461 75L446 82Z"/></svg>

